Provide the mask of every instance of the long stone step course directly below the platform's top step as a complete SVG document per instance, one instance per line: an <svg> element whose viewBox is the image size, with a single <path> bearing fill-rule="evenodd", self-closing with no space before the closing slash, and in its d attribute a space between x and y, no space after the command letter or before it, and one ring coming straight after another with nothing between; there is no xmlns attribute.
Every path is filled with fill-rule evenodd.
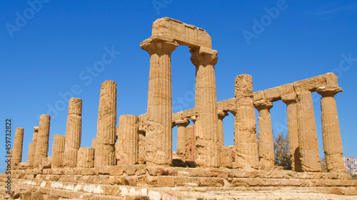
<svg viewBox="0 0 357 200"><path fill-rule="evenodd" d="M173 177L173 176L53 176L37 175L36 178L25 176L24 179L13 178L14 182L29 182L37 186L46 186L66 182L75 188L81 184L121 185L121 186L202 186L202 187L236 187L236 186L296 186L296 187L357 187L356 180L342 179L256 179L256 178L218 178L218 177ZM49 187L49 186L48 186Z"/></svg>

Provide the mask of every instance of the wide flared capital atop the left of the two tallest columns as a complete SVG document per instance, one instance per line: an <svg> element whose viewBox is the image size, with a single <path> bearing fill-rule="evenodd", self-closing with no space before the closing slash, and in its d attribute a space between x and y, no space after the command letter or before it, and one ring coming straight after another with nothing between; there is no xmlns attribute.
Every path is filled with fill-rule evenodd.
<svg viewBox="0 0 357 200"><path fill-rule="evenodd" d="M150 56L154 53L161 55L171 55L171 53L176 49L178 43L174 41L173 38L167 36L154 35L149 39L140 43L142 49L147 51Z"/></svg>

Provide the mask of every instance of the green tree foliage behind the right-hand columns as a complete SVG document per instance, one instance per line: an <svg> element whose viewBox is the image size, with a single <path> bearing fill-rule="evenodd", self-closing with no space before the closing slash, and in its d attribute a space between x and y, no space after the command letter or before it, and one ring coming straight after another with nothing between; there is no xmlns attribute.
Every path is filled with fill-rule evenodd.
<svg viewBox="0 0 357 200"><path fill-rule="evenodd" d="M291 157L289 154L289 140L288 135L280 133L274 140L274 154L276 166L281 166L283 169L291 169Z"/></svg>

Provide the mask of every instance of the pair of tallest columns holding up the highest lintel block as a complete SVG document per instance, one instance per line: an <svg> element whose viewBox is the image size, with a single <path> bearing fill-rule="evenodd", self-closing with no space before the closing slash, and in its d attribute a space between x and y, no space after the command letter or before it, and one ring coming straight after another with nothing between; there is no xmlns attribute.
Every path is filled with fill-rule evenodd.
<svg viewBox="0 0 357 200"><path fill-rule="evenodd" d="M146 164L172 163L171 53L178 46L173 39L154 35L141 43L149 53L148 122L146 132ZM196 166L219 167L216 79L214 65L217 51L189 47L196 66ZM183 125L178 122L178 154L183 151Z"/></svg>

